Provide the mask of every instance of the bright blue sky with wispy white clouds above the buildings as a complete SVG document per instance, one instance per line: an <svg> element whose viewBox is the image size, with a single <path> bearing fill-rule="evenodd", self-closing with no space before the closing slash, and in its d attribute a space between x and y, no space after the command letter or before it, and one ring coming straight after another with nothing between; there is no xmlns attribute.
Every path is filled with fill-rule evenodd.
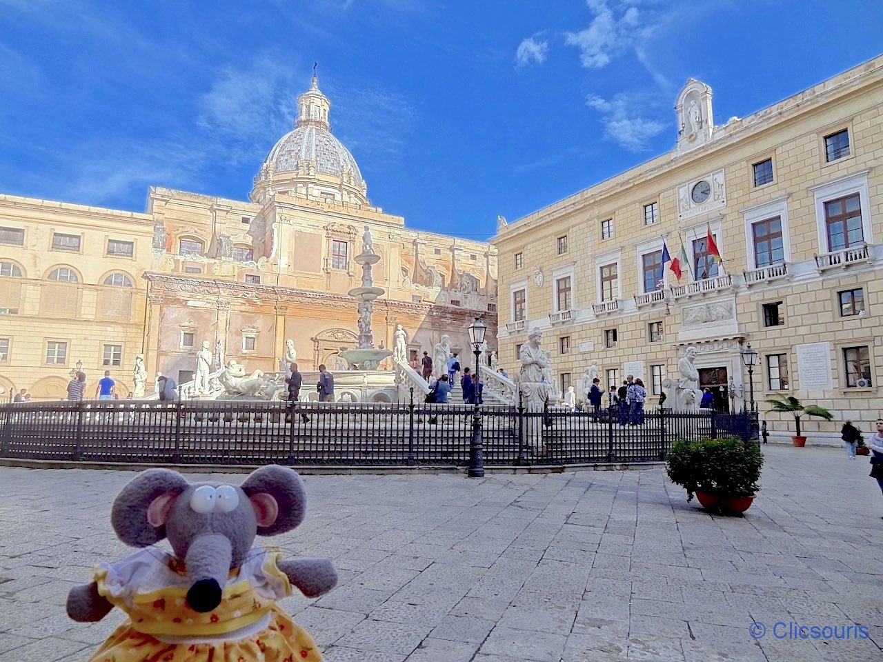
<svg viewBox="0 0 883 662"><path fill-rule="evenodd" d="M883 52L879 0L0 0L0 192L247 199L313 61L373 204L487 238Z"/></svg>

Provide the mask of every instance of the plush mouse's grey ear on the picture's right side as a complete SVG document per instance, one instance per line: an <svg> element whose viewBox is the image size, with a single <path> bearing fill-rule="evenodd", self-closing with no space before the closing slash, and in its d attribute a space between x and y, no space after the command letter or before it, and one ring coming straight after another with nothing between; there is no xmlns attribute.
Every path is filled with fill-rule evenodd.
<svg viewBox="0 0 883 662"><path fill-rule="evenodd" d="M304 521L306 489L293 469L270 464L254 470L242 491L252 501L259 536L290 531Z"/></svg>

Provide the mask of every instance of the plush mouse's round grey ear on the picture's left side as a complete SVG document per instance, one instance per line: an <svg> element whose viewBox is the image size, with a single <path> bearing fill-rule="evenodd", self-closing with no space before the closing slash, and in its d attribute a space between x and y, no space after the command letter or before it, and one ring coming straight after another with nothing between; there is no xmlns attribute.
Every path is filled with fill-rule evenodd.
<svg viewBox="0 0 883 662"><path fill-rule="evenodd" d="M165 538L165 520L178 494L189 483L168 469L141 472L113 502L110 523L126 545L147 547Z"/></svg>

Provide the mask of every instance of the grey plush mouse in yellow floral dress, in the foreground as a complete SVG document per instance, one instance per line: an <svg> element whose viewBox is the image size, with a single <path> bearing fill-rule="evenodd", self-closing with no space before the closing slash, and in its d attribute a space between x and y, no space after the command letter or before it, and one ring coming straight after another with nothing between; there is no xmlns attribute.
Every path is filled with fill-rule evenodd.
<svg viewBox="0 0 883 662"><path fill-rule="evenodd" d="M320 661L313 639L275 601L292 585L309 598L327 593L334 565L252 546L255 535L297 527L305 510L303 482L281 466L255 470L240 486L140 473L110 520L120 540L142 549L99 564L94 581L67 598L74 621L101 621L115 606L129 616L89 662ZM172 553L152 546L162 538Z"/></svg>

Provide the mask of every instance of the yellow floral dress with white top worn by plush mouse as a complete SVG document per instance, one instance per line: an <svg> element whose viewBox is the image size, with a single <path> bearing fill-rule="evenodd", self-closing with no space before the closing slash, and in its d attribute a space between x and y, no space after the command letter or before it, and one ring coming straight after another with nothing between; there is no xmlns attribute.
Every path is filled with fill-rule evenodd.
<svg viewBox="0 0 883 662"><path fill-rule="evenodd" d="M321 662L313 639L275 606L291 595L281 553L253 549L230 571L221 604L187 605L183 561L142 549L94 570L98 592L129 618L89 662Z"/></svg>

